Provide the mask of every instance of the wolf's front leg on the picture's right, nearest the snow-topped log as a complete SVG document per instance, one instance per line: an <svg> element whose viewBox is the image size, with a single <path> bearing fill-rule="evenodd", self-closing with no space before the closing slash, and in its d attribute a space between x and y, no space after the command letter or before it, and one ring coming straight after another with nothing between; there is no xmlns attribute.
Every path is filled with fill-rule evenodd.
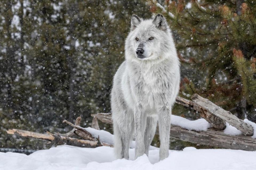
<svg viewBox="0 0 256 170"><path fill-rule="evenodd" d="M169 156L169 139L171 127L171 110L169 107L162 107L159 111L159 137L160 137L160 150L159 160L163 160Z"/></svg>

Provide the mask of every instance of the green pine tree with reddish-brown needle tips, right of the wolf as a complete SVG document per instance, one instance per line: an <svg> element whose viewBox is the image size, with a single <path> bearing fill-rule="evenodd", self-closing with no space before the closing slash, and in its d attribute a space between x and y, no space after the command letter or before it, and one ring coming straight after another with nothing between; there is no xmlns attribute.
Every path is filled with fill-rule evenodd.
<svg viewBox="0 0 256 170"><path fill-rule="evenodd" d="M183 97L193 93L256 122L256 2L148 0L174 32Z"/></svg>

